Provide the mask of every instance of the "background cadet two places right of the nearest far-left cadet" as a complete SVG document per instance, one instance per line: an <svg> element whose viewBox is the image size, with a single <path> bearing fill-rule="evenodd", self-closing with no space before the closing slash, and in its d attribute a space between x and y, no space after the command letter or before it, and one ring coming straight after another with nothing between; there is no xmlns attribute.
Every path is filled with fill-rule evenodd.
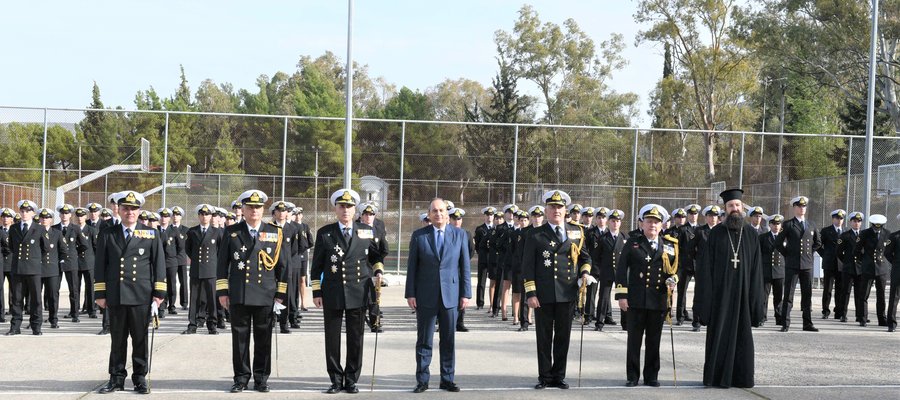
<svg viewBox="0 0 900 400"><path fill-rule="evenodd" d="M69 289L69 313L66 318L71 318L72 322L79 322L78 309L81 306L81 278L78 276L78 254L87 246L86 240L81 236L81 227L72 221L72 213L75 207L69 204L63 204L56 208L59 213L59 223L53 225L53 229L58 230L62 234L63 241L66 243L66 256L63 263L60 264L63 276L66 278L66 285Z"/></svg>

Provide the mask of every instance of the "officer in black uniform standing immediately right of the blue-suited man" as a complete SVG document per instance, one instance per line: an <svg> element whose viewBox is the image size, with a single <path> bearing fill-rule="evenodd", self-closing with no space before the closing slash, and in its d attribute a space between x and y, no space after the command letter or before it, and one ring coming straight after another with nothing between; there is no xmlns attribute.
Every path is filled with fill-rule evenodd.
<svg viewBox="0 0 900 400"><path fill-rule="evenodd" d="M593 280L584 229L566 222L569 195L551 190L543 195L547 224L526 238L522 252L522 278L528 306L534 309L537 338L538 384L535 389L568 389L566 362L572 313L583 279ZM588 283L585 282L585 283Z"/></svg>

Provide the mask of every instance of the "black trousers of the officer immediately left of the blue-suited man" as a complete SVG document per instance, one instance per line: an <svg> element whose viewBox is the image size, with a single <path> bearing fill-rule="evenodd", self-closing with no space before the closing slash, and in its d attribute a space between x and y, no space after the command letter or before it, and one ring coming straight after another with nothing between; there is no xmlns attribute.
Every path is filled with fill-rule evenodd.
<svg viewBox="0 0 900 400"><path fill-rule="evenodd" d="M362 372L363 326L365 307L351 310L325 308L325 366L332 384L340 387L356 384ZM341 367L341 323L347 324L347 358Z"/></svg>

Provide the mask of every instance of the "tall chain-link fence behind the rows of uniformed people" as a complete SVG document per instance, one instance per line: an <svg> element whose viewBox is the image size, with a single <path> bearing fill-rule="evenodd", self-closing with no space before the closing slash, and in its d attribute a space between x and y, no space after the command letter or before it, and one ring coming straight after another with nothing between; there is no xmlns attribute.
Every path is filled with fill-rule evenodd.
<svg viewBox="0 0 900 400"><path fill-rule="evenodd" d="M789 199L808 196L819 226L833 209L864 208L862 136L364 118L353 128L353 187L379 202L397 247L436 196L469 212L469 230L482 207L527 207L551 188L624 210L629 229L642 204L711 204L721 187L743 187L745 202L767 213L790 214ZM344 185L344 129L341 118L0 107L0 205L29 198L53 206L63 200L57 188L71 182L71 204L156 189L147 198L153 209L228 208L255 188L304 207L318 227L334 220L328 197ZM113 168L140 164L142 138L149 172ZM900 187L888 187L900 182L900 168L890 167L900 164L897 139L876 137L872 153L871 212L891 221L900 212ZM114 170L86 180L106 168ZM159 190L163 182L169 187Z"/></svg>

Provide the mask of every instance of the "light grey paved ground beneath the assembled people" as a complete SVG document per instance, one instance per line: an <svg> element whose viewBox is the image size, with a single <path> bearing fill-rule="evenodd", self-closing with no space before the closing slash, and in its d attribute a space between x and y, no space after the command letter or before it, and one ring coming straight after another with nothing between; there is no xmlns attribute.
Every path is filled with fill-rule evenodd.
<svg viewBox="0 0 900 400"><path fill-rule="evenodd" d="M405 307L402 290L402 287L390 287L383 293L386 332L378 335L375 392L366 395L385 399L451 397L436 388L424 395L409 393L415 385L415 320ZM814 299L821 298L820 291L815 291L814 295ZM797 296L795 304L800 302L799 291ZM874 311L874 293L870 308ZM63 309L62 313L67 311ZM180 335L187 325L186 314L179 312L164 319L156 334L150 375L153 397L228 396L226 391L231 385L230 335L226 331L210 336L202 330L197 335ZM615 314L618 315L618 311ZM269 382L273 391L268 395L246 395L328 397L321 394L329 385L325 372L322 314L310 310L304 315L301 329L290 335L278 335L278 360L273 365ZM800 319L799 311L794 315ZM814 307L813 315L821 316L819 307ZM875 319L874 313L870 318ZM516 332L511 321L490 318L484 310L470 310L466 321L472 331L457 334L456 382L463 393L454 396L531 399L562 394L557 389L531 389L537 373L533 330ZM815 322L821 329L819 333L799 329L781 333L773 325L754 331L757 386L749 390L702 386L705 331L694 333L688 326L673 329L677 387L672 379L672 352L666 328L659 374L663 387L625 388L626 334L615 326L607 327L603 332L585 330L581 388L577 388L580 331L576 326L569 351L568 381L572 389L565 392L565 396L900 399L900 334L889 334L883 327L860 328L833 319ZM796 325L799 327L800 323ZM108 378L109 336L97 336L99 329L99 320L84 318L79 324L61 320L60 329L45 328L41 337L27 334L0 337L3 349L0 351L0 397L102 397L96 394L96 389ZM368 390L371 384L374 344L375 335L367 333L364 373L360 381L363 390ZM436 384L437 370L433 368L432 372ZM130 380L126 381L126 388L131 388ZM132 395L132 392L114 396L124 395Z"/></svg>

